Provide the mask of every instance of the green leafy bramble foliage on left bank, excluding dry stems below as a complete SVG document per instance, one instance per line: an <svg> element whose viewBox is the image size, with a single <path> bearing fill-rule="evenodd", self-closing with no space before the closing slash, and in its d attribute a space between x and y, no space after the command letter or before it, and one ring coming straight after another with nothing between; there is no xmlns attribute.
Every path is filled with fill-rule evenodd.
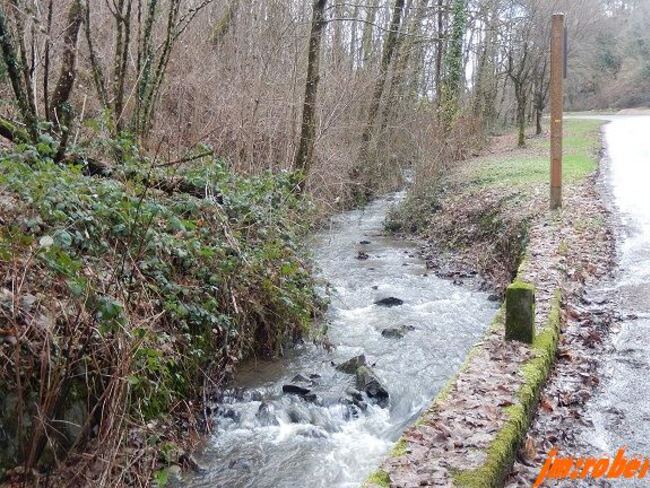
<svg viewBox="0 0 650 488"><path fill-rule="evenodd" d="M116 179L54 164L47 140L0 157L0 193L29 209L0 232L0 259L34 252L35 286L83 310L99 340L127 340L129 408L146 420L192 398L208 368L222 376L309 331L320 305L298 244L309 207L295 175L243 178L212 158L174 172L214 198L168 195L147 178L172 170L138 169L133 142L113 144Z"/></svg>

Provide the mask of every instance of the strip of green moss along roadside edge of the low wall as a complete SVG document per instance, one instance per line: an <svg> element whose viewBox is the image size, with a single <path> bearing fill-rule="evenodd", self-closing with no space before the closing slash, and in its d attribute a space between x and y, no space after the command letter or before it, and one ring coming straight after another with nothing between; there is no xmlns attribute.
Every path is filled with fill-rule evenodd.
<svg viewBox="0 0 650 488"><path fill-rule="evenodd" d="M519 403L508 407L508 420L497 433L488 449L487 459L477 469L461 471L454 477L455 485L463 488L484 488L503 486L503 482L514 461L546 378L548 377L557 351L561 324L561 292L556 290L546 327L533 342L535 356L521 368L525 378L518 392Z"/></svg>

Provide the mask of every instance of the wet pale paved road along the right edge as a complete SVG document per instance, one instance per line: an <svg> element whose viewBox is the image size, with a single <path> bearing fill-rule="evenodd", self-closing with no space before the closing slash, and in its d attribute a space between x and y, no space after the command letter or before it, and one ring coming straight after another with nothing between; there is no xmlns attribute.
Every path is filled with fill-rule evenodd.
<svg viewBox="0 0 650 488"><path fill-rule="evenodd" d="M650 456L650 116L614 117L605 138L607 179L622 224L610 294L621 315L631 317L604 359L600 391L588 406L594 428L584 441L600 453L627 446L630 454Z"/></svg>

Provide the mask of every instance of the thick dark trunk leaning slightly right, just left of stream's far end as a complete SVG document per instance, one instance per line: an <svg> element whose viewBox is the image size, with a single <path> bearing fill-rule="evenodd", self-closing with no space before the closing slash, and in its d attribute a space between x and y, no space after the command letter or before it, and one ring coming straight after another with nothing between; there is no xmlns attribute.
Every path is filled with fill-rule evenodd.
<svg viewBox="0 0 650 488"><path fill-rule="evenodd" d="M299 190L304 189L304 183L309 176L314 156L316 138L316 99L318 96L318 81L320 69L321 40L325 25L325 5L327 0L314 0L311 35L309 36L309 53L307 60L307 81L305 83L305 98L302 108L302 129L300 145L293 163L296 171L302 172Z"/></svg>

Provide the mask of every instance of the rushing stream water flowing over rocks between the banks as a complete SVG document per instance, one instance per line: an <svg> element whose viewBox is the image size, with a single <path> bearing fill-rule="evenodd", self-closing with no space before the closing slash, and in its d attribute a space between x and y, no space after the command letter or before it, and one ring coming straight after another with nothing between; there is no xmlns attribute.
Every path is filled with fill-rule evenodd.
<svg viewBox="0 0 650 488"><path fill-rule="evenodd" d="M429 275L413 243L383 235L387 211L403 196L339 214L315 236L314 258L332 294L324 320L335 349L305 344L283 360L241 368L199 458L206 469L186 486L356 487L458 370L496 305L483 292ZM387 297L403 304L375 304ZM382 335L400 327L402 338ZM354 376L333 367L362 353L390 394L386 408L354 392L353 401ZM316 398L283 394L286 384Z"/></svg>

